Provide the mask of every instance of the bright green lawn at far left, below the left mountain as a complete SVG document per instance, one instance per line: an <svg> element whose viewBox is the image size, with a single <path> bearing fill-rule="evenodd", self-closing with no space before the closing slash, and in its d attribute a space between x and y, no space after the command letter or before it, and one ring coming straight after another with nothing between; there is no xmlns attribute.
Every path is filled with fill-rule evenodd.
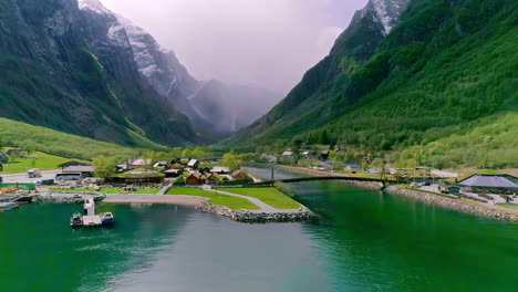
<svg viewBox="0 0 518 292"><path fill-rule="evenodd" d="M35 156L35 159L17 158L12 161L9 161L8 164L4 164L3 171L0 171L0 175L27 173L30 168L40 168L40 170L54 170L59 169L58 165L70 160L84 164L89 163L81 159L64 158L41 152L35 152L33 155Z"/></svg>

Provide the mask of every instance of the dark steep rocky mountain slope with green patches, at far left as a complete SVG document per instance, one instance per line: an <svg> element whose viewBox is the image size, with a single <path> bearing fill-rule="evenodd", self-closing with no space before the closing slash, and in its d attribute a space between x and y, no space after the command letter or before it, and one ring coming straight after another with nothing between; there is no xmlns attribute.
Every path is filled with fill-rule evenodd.
<svg viewBox="0 0 518 292"><path fill-rule="evenodd" d="M112 19L70 0L0 3L0 116L125 145L199 142L104 38Z"/></svg>

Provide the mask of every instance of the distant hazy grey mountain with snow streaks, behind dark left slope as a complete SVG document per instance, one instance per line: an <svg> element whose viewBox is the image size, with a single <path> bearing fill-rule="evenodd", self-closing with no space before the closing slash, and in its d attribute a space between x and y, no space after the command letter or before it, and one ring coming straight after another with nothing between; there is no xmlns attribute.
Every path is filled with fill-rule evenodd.
<svg viewBox="0 0 518 292"><path fill-rule="evenodd" d="M80 8L99 17L116 19L110 22L107 38L126 50L131 49L139 73L153 88L167 97L170 105L189 118L205 142L217 142L250 125L280 100L276 93L262 88L215 80L197 81L172 50L162 48L152 34L111 12L99 0L80 0Z"/></svg>

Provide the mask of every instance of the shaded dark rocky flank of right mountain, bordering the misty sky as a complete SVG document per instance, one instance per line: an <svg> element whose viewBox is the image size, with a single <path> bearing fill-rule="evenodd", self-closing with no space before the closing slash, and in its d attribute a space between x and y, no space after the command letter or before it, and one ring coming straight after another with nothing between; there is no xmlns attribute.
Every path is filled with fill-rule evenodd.
<svg viewBox="0 0 518 292"><path fill-rule="evenodd" d="M335 85L336 79L350 76L377 50L386 33L395 25L408 0L371 0L356 11L350 27L338 38L330 54L308 71L302 81L268 115L236 135L237 140L247 139L279 124L292 124L308 112L319 116L315 123L298 125L308 129L329 121L318 109L329 98L325 93ZM390 10L386 8L391 8ZM271 139L270 139L271 140Z"/></svg>

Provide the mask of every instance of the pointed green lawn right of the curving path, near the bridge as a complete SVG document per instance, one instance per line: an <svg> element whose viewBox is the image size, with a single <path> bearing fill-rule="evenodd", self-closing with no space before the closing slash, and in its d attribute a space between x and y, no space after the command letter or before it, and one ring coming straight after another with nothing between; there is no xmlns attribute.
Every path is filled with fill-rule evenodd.
<svg viewBox="0 0 518 292"><path fill-rule="evenodd" d="M220 188L218 190L258 198L277 209L299 209L301 206L276 188Z"/></svg>

